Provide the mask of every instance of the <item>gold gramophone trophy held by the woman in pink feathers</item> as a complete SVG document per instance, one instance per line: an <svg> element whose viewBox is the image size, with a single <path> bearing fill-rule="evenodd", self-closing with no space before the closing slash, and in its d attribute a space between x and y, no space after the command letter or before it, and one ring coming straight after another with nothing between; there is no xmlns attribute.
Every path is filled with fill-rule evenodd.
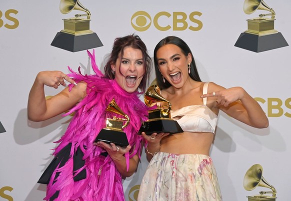
<svg viewBox="0 0 291 201"><path fill-rule="evenodd" d="M106 126L101 129L95 138L94 142L104 141L106 143L114 143L122 147L126 147L129 143L126 137L125 132L122 129L128 124L129 117L119 108L116 104L114 98L108 104L105 111L110 111L116 114L120 114L125 118L118 118L113 116L113 118L106 118ZM124 123L125 122L125 123ZM124 123L124 124L123 124Z"/></svg>

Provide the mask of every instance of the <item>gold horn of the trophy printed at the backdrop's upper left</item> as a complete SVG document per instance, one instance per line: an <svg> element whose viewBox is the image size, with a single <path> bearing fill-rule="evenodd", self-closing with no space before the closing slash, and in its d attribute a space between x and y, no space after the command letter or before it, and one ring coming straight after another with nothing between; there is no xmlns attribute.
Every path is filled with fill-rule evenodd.
<svg viewBox="0 0 291 201"><path fill-rule="evenodd" d="M86 12L86 14L75 14L76 18L78 18L79 16L87 16L87 19L89 19L91 16L90 11L87 8L85 8L80 3L79 0L60 0L59 10L63 14L67 14L71 10L81 10L81 11Z"/></svg>

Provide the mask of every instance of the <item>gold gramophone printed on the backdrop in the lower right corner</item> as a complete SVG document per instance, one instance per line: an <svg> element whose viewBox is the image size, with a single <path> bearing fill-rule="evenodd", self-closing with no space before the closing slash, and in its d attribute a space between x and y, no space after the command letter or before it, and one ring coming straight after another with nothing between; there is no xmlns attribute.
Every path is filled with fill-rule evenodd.
<svg viewBox="0 0 291 201"><path fill-rule="evenodd" d="M275 201L276 199L276 190L270 185L265 178L262 176L262 166L260 164L252 165L245 173L243 178L243 187L246 190L253 190L255 187L267 187L271 191L260 191L258 195L247 196L248 201ZM271 193L272 196L265 195L266 193Z"/></svg>

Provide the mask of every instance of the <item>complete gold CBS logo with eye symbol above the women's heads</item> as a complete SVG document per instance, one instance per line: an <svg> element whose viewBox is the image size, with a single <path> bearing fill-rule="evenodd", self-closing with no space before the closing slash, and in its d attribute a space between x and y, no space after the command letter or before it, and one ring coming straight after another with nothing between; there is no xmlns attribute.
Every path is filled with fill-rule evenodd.
<svg viewBox="0 0 291 201"><path fill-rule="evenodd" d="M152 20L147 12L140 10L131 16L131 26L137 31L145 31L150 27L151 22L153 22L154 27L161 31L171 28L172 30L186 30L188 28L192 31L197 31L202 28L203 24L195 17L201 14L199 11L193 11L187 16L185 12L173 12L171 14L166 11L161 11L156 13ZM161 22L164 20L166 21L165 23Z"/></svg>

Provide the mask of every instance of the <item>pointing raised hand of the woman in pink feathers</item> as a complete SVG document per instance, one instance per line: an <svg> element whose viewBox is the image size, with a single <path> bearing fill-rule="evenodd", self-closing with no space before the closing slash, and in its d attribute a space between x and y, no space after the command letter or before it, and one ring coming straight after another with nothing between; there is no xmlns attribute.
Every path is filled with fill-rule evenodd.
<svg viewBox="0 0 291 201"><path fill-rule="evenodd" d="M58 70L38 72L35 78L35 81L39 84L44 84L54 88L58 88L60 84L66 86L64 80L76 85L73 79Z"/></svg>

